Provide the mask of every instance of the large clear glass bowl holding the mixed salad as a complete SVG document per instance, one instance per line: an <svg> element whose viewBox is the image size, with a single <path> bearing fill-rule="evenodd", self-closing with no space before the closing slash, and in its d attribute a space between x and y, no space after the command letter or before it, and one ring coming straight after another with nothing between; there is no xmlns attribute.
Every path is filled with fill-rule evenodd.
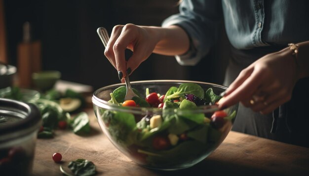
<svg viewBox="0 0 309 176"><path fill-rule="evenodd" d="M146 89L162 95L171 87L179 88L187 83L197 84L204 91L212 88L215 95L227 89L216 84L179 80L137 81L131 82L131 85L145 99ZM215 104L158 109L111 103L110 94L114 92L115 96L117 92L114 90L123 85L97 89L92 97L94 112L103 133L112 144L144 167L157 170L191 167L211 154L232 128L238 104L225 109L225 116L216 120L214 113L222 114L222 111L218 111ZM173 101L166 104L170 102Z"/></svg>

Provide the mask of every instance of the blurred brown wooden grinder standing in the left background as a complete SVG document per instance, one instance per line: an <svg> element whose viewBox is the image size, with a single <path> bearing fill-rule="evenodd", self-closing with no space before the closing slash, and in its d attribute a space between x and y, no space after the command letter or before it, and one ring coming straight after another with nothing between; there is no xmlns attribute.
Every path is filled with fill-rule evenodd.
<svg viewBox="0 0 309 176"><path fill-rule="evenodd" d="M23 42L17 46L17 71L19 86L32 87L32 73L41 70L41 43L39 40L31 41L30 23L23 25Z"/></svg>

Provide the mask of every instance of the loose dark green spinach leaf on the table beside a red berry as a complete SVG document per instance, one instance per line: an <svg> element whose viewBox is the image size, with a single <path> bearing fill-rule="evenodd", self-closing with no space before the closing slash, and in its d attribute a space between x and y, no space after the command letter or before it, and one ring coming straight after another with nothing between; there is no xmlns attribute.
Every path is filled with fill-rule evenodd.
<svg viewBox="0 0 309 176"><path fill-rule="evenodd" d="M68 168L75 176L93 176L96 174L95 165L91 161L85 159L71 161Z"/></svg>

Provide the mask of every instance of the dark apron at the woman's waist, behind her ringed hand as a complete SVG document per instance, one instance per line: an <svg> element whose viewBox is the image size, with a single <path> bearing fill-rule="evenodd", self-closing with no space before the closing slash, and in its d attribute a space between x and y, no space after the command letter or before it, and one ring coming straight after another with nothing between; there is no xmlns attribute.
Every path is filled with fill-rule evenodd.
<svg viewBox="0 0 309 176"><path fill-rule="evenodd" d="M284 47L232 48L224 85L229 86L240 71L255 60ZM299 80L293 89L292 99L268 115L255 113L239 103L232 130L309 147L309 78Z"/></svg>

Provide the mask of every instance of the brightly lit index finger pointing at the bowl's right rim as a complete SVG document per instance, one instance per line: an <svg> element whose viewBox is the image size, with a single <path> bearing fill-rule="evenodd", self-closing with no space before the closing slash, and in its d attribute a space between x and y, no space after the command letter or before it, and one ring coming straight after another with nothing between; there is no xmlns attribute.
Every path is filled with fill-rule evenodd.
<svg viewBox="0 0 309 176"><path fill-rule="evenodd" d="M263 79L263 72L259 70L255 70L252 72L250 77L248 77L238 88L231 92L231 94L227 95L222 104L219 105L221 107L229 107L242 99L251 98L253 93L258 89L261 81Z"/></svg>

